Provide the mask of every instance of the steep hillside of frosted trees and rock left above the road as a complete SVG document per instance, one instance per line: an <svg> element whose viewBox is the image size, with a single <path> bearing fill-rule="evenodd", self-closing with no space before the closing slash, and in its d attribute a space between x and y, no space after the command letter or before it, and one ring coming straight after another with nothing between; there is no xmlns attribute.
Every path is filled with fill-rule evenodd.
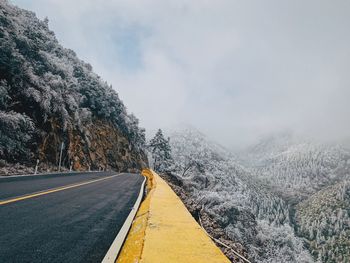
<svg viewBox="0 0 350 263"><path fill-rule="evenodd" d="M48 21L0 1L1 164L140 169L144 130L118 94L63 48Z"/></svg>

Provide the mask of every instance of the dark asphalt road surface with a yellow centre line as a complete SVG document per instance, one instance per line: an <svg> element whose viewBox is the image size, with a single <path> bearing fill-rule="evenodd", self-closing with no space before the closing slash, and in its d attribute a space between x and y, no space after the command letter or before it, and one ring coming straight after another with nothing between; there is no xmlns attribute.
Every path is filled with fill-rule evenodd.
<svg viewBox="0 0 350 263"><path fill-rule="evenodd" d="M133 207L143 177L81 173L0 179L0 262L101 262ZM103 179L103 180L99 180Z"/></svg>

